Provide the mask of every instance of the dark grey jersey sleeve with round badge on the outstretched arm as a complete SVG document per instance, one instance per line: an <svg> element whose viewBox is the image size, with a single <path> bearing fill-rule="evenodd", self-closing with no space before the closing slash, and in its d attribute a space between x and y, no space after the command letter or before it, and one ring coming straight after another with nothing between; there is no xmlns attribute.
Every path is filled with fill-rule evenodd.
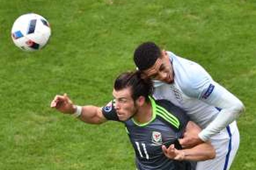
<svg viewBox="0 0 256 170"><path fill-rule="evenodd" d="M102 114L108 120L120 121L115 110L115 100L111 100L102 109Z"/></svg>

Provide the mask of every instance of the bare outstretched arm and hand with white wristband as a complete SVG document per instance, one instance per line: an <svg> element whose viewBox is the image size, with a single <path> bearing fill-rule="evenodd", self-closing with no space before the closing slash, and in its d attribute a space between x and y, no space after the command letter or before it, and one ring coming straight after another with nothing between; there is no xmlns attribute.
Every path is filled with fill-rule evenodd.
<svg viewBox="0 0 256 170"><path fill-rule="evenodd" d="M61 113L79 117L82 121L86 123L100 124L106 121L106 118L102 114L102 110L100 107L93 105L74 105L66 94L64 94L63 96L56 95L51 102L51 107L56 108Z"/></svg>

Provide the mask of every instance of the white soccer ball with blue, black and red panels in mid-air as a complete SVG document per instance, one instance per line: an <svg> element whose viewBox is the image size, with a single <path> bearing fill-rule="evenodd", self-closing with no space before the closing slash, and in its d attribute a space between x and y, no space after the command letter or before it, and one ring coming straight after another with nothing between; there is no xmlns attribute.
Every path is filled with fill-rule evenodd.
<svg viewBox="0 0 256 170"><path fill-rule="evenodd" d="M12 26L14 44L26 51L36 51L43 48L51 36L49 22L34 13L18 17Z"/></svg>

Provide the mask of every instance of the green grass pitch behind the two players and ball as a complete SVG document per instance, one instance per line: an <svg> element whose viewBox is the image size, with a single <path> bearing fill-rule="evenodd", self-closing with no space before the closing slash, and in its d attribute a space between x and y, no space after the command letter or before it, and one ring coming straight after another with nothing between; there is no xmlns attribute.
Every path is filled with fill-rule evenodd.
<svg viewBox="0 0 256 170"><path fill-rule="evenodd" d="M29 12L51 23L38 52L19 50L10 36ZM134 170L122 124L84 124L49 104L66 92L76 104L104 105L149 40L203 65L244 102L231 170L256 169L255 18L255 0L0 0L0 169Z"/></svg>

